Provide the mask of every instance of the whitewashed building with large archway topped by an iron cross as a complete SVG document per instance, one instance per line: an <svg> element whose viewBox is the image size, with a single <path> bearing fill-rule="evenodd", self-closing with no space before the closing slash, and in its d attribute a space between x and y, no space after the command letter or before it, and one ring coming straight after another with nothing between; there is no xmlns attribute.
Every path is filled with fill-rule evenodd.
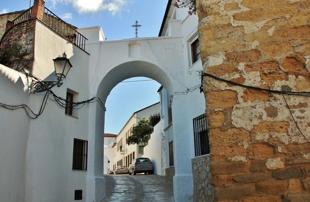
<svg viewBox="0 0 310 202"><path fill-rule="evenodd" d="M34 4L38 2L44 7L42 0ZM35 18L31 73L42 80L55 80L52 59L65 51L73 67L63 85L52 91L62 98L71 94L73 102L91 98L95 102L67 114L57 102L45 101L45 93L29 93L31 78L0 65L0 161L6 162L0 164L0 186L5 187L0 201L73 201L76 195L82 201L101 201L107 171L104 103L119 82L138 76L163 86L162 122L154 130L159 127L158 131L164 131L160 139L166 157L156 169L163 173L173 167L175 201L193 200L193 118L205 110L204 96L198 90L200 79L195 74L202 70L201 61L193 62L191 56L198 18L189 16L187 9L176 9L173 3L168 2L159 37L106 41L100 26L82 28L77 31L88 39L85 50ZM8 29L8 33L18 26ZM97 80L91 82L94 76ZM35 119L19 107L24 104L27 112L29 108L37 112L45 102L44 111ZM172 154L167 149L171 141ZM80 159L74 157L76 152L83 155L82 164L75 165L74 158ZM174 157L172 166L169 155Z"/></svg>

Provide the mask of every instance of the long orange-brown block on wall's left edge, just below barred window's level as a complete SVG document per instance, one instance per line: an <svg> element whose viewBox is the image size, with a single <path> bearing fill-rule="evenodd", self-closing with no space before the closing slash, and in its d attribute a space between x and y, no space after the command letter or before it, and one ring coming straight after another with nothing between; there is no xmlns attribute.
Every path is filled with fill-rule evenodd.
<svg viewBox="0 0 310 202"><path fill-rule="evenodd" d="M233 173L243 173L248 171L249 171L248 163L242 161L211 162L212 175L229 175Z"/></svg>

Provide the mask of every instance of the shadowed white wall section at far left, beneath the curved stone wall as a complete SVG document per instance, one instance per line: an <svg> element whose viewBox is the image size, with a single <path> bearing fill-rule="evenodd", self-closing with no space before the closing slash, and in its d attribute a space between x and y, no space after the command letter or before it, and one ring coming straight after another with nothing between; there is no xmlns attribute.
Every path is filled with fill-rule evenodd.
<svg viewBox="0 0 310 202"><path fill-rule="evenodd" d="M27 83L23 74L0 64L0 103L29 106ZM0 107L0 201L24 200L29 123L23 108Z"/></svg>

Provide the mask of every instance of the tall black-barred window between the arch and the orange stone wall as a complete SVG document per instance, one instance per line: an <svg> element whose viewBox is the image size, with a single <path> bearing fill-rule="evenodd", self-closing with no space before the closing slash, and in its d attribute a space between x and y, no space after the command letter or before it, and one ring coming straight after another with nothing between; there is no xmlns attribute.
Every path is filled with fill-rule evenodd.
<svg viewBox="0 0 310 202"><path fill-rule="evenodd" d="M201 156L210 153L209 136L207 131L207 117L202 114L193 119L195 156Z"/></svg>

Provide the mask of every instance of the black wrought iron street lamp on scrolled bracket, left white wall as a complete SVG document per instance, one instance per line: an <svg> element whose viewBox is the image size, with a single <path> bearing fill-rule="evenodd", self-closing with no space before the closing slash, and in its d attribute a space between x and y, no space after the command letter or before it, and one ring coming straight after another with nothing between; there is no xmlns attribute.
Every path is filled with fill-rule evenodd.
<svg viewBox="0 0 310 202"><path fill-rule="evenodd" d="M55 85L60 87L63 84L61 81L66 79L66 76L72 65L65 52L62 54L62 56L58 56L57 58L53 59L53 61L55 66L55 76L57 77L58 81L42 81L38 78L35 78L37 81L34 81L32 84L33 93L47 91Z"/></svg>

